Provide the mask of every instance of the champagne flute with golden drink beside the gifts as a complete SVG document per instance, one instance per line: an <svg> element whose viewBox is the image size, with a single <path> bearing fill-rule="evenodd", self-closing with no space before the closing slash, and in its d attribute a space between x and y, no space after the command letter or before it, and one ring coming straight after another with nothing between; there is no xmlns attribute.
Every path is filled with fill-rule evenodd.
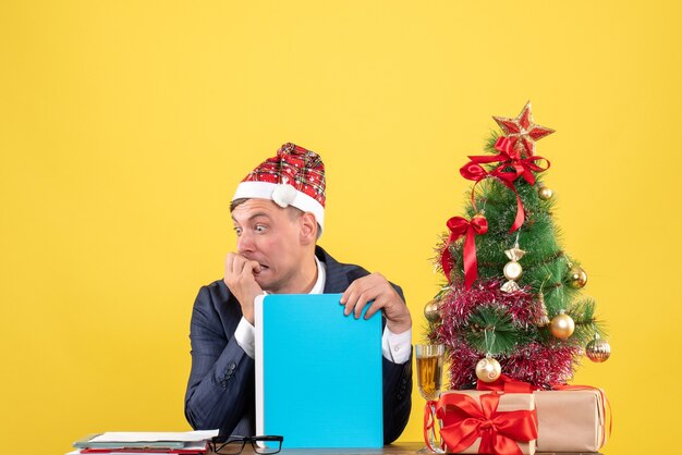
<svg viewBox="0 0 682 455"><path fill-rule="evenodd" d="M427 402L434 402L440 396L442 381L442 365L446 347L442 344L417 344L417 384L419 393ZM444 453L436 442L436 406L430 404L434 426L428 433L429 444L436 453ZM431 448L423 447L418 453L429 453Z"/></svg>

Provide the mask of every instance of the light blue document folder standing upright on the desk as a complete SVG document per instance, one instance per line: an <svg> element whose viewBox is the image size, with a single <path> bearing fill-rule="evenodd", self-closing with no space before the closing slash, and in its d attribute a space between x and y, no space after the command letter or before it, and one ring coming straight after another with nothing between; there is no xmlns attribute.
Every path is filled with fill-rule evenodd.
<svg viewBox="0 0 682 455"><path fill-rule="evenodd" d="M340 298L256 299L256 434L283 448L383 445L381 316L346 317Z"/></svg>

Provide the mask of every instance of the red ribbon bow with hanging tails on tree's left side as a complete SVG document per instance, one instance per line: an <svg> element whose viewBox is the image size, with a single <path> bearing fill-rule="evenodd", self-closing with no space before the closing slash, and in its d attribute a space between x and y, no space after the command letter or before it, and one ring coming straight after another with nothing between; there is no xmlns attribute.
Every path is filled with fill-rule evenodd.
<svg viewBox="0 0 682 455"><path fill-rule="evenodd" d="M446 276L448 276L448 281L451 282L452 254L450 253L450 245L456 242L462 235L466 235L464 239L464 284L470 288L478 275L475 236L488 232L488 220L486 220L483 214L475 214L471 221L462 217L452 217L448 220L447 225L450 230L450 236L448 237L448 242L446 242L446 248L440 257L440 265L442 266Z"/></svg>

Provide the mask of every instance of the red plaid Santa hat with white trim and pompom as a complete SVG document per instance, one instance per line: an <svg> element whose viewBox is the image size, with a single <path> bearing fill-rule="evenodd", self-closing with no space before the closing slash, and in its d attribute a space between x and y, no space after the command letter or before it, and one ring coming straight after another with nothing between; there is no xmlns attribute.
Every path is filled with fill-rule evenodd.
<svg viewBox="0 0 682 455"><path fill-rule="evenodd" d="M315 216L319 234L325 226L325 164L314 151L287 143L239 184L235 199L270 199Z"/></svg>

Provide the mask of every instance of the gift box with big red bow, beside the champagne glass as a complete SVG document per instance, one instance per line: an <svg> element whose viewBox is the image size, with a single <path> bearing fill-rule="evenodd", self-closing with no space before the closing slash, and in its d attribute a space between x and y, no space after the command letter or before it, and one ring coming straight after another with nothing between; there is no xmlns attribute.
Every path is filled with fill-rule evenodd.
<svg viewBox="0 0 682 455"><path fill-rule="evenodd" d="M535 453L537 416L531 393L444 392L436 404L436 417L449 453Z"/></svg>

